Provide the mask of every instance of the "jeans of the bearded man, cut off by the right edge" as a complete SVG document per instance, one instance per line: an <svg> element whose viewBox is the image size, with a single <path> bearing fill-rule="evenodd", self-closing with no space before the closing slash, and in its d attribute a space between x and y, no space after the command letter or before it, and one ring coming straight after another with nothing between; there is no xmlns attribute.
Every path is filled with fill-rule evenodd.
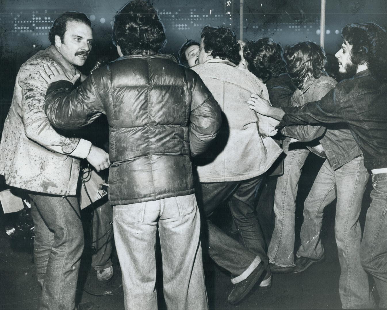
<svg viewBox="0 0 387 310"><path fill-rule="evenodd" d="M375 281L379 308L387 308L387 173L373 174L372 181L372 201L367 210L360 259Z"/></svg>

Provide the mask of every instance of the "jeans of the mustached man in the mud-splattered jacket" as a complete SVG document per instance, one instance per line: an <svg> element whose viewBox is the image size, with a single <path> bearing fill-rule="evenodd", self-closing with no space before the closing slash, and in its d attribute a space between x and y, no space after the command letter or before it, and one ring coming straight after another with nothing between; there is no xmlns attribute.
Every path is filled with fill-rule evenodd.
<svg viewBox="0 0 387 310"><path fill-rule="evenodd" d="M42 286L39 309L75 309L84 247L77 197L29 193L35 224L34 264Z"/></svg>

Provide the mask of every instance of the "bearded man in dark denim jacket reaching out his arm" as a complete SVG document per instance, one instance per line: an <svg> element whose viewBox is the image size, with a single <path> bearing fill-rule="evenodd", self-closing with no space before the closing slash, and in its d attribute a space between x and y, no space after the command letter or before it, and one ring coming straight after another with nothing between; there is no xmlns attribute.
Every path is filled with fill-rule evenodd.
<svg viewBox="0 0 387 310"><path fill-rule="evenodd" d="M349 24L341 33L343 44L336 58L339 60L340 73L348 79L342 80L321 100L302 107L276 109L259 98L253 99L252 104L256 112L281 119L281 127L295 124L348 124L373 180L372 202L367 210L360 261L373 276L380 297L379 308L386 308L387 35L374 22Z"/></svg>

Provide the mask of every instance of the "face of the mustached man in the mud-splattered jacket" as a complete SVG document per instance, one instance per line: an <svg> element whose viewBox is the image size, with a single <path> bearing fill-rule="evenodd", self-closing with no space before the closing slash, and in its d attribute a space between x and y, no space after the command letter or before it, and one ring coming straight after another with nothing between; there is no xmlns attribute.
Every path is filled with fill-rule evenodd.
<svg viewBox="0 0 387 310"><path fill-rule="evenodd" d="M55 46L59 53L72 65L83 66L91 51L93 36L91 28L75 20L66 22L66 32L61 42L55 36Z"/></svg>

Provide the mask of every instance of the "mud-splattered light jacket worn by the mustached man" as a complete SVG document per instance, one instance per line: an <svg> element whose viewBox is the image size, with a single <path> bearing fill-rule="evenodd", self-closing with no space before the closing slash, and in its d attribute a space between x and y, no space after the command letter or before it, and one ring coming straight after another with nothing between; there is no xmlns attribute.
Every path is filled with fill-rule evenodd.
<svg viewBox="0 0 387 310"><path fill-rule="evenodd" d="M52 45L21 66L0 143L0 174L10 186L75 195L78 158L87 157L91 142L65 136L48 121L43 109L48 84L39 74L47 63L57 63L67 75L80 73Z"/></svg>

